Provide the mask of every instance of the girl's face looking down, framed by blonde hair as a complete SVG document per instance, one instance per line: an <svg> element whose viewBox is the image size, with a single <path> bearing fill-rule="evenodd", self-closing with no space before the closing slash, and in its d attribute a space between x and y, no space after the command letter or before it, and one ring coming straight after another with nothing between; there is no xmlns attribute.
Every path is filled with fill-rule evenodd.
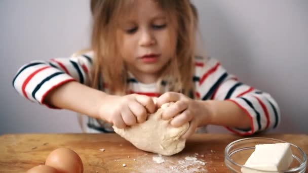
<svg viewBox="0 0 308 173"><path fill-rule="evenodd" d="M158 77L175 56L175 28L155 1L135 0L134 5L117 30L119 53L136 77Z"/></svg>

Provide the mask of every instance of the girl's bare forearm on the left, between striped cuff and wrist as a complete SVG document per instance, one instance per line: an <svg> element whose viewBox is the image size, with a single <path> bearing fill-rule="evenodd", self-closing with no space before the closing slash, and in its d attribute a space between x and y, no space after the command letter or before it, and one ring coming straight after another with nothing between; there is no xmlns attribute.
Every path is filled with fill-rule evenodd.
<svg viewBox="0 0 308 173"><path fill-rule="evenodd" d="M51 91L44 99L44 103L98 118L101 104L106 96L104 92L71 81Z"/></svg>

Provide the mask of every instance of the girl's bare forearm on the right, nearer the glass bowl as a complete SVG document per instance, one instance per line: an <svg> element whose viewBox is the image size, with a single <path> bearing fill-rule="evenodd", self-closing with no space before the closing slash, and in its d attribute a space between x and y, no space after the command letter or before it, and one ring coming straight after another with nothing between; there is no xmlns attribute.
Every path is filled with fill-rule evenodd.
<svg viewBox="0 0 308 173"><path fill-rule="evenodd" d="M249 128L251 126L248 115L235 103L231 101L198 101L205 108L207 115L199 126L213 124L231 126L237 128Z"/></svg>

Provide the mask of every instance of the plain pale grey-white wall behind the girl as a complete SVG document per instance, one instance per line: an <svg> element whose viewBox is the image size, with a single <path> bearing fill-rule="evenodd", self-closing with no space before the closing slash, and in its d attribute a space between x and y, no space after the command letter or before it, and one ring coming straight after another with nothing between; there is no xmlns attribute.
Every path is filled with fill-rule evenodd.
<svg viewBox="0 0 308 173"><path fill-rule="evenodd" d="M270 133L308 133L308 1L195 0L209 55L242 81L271 93L282 122ZM89 45L88 0L0 1L0 134L81 132L75 113L20 97L17 69ZM224 132L210 127L210 132Z"/></svg>

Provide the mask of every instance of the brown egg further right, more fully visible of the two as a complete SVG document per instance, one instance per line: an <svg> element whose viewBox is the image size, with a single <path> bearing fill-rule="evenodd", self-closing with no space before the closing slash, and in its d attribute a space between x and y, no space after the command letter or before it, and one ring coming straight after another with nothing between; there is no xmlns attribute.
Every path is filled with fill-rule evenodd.
<svg viewBox="0 0 308 173"><path fill-rule="evenodd" d="M46 158L45 165L56 168L61 173L82 173L84 166L81 158L73 150L58 148Z"/></svg>

